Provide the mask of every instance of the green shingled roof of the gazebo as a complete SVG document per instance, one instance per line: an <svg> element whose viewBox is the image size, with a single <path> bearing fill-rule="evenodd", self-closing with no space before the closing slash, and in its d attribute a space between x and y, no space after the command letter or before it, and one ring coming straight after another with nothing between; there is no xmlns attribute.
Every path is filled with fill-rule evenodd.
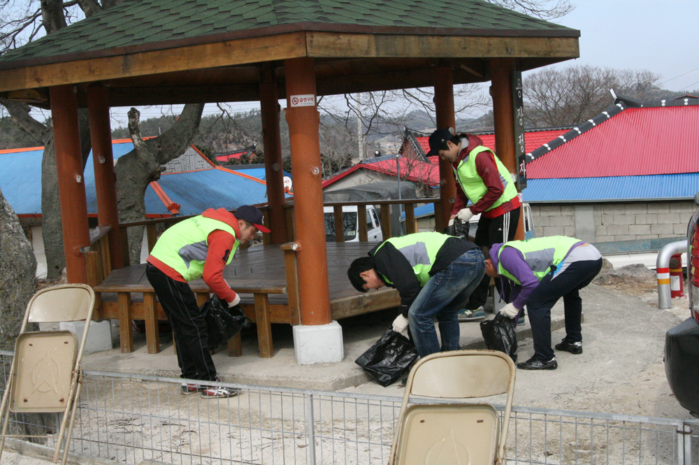
<svg viewBox="0 0 699 465"><path fill-rule="evenodd" d="M575 29L481 0L128 0L6 53L0 57L0 68L298 29L365 34L579 36Z"/></svg>

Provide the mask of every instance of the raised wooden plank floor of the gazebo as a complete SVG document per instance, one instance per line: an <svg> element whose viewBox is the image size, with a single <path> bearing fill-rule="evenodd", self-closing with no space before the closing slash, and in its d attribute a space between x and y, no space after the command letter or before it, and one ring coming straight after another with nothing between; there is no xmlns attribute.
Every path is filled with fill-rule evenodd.
<svg viewBox="0 0 699 465"><path fill-rule="evenodd" d="M347 278L347 268L352 263L352 260L366 256L366 253L375 245L376 243L358 242L326 243L333 320L400 305L400 298L395 289L384 288L361 294L352 287ZM224 278L233 289L236 289L236 287L286 287L284 252L282 252L279 245L261 245L238 250L231 264L224 269ZM206 287L201 279L194 280L189 284L193 288ZM110 287L110 289L122 287L124 291L134 286L150 287L145 276L145 264L114 270L99 285L99 287ZM268 294L268 296L269 303L272 306L288 305L287 294ZM240 297L242 303L247 304L244 307L254 305L252 294L241 293ZM103 293L102 299L103 301L115 301L116 294ZM132 299L140 301L142 296L134 294ZM282 321L273 317L272 322Z"/></svg>

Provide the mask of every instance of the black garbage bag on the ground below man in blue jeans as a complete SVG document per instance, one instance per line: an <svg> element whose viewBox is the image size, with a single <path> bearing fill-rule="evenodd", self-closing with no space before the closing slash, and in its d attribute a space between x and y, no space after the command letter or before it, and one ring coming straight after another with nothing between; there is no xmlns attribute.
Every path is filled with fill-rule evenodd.
<svg viewBox="0 0 699 465"><path fill-rule="evenodd" d="M391 327L366 352L354 361L380 385L386 387L410 369L417 349L408 338Z"/></svg>

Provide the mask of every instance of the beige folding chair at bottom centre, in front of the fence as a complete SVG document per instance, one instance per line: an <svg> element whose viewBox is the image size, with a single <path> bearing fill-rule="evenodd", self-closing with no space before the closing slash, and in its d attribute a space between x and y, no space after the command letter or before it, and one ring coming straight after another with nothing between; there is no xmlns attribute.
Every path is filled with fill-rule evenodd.
<svg viewBox="0 0 699 465"><path fill-rule="evenodd" d="M514 364L503 352L456 350L410 371L389 465L503 465ZM410 396L473 399L507 394L503 422L489 403L412 403Z"/></svg>

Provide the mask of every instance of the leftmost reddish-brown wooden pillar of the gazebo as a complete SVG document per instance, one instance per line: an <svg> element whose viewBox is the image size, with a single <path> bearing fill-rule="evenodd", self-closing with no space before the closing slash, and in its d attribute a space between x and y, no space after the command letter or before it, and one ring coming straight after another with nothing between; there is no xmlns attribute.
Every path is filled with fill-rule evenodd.
<svg viewBox="0 0 699 465"><path fill-rule="evenodd" d="M80 248L89 246L89 229L75 92L72 85L59 85L49 90L66 273L68 282L87 284L85 256Z"/></svg>

